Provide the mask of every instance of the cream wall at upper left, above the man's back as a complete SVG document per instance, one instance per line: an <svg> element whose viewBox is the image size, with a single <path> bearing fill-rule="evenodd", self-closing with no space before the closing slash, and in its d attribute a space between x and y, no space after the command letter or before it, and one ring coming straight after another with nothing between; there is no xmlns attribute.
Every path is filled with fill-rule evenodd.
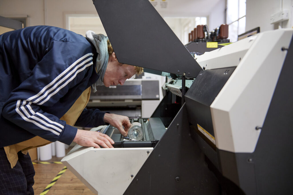
<svg viewBox="0 0 293 195"><path fill-rule="evenodd" d="M28 16L27 26L66 28L66 14L97 14L91 0L1 0L0 16Z"/></svg>

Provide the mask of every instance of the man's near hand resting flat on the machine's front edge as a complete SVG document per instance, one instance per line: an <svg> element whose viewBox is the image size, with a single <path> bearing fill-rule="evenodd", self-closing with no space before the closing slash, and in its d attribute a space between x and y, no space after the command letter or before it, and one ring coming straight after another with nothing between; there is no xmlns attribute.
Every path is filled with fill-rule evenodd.
<svg viewBox="0 0 293 195"><path fill-rule="evenodd" d="M100 148L114 148L114 141L106 134L97 131L86 131L77 129L77 133L73 141L81 146ZM100 146L99 146L100 145Z"/></svg>

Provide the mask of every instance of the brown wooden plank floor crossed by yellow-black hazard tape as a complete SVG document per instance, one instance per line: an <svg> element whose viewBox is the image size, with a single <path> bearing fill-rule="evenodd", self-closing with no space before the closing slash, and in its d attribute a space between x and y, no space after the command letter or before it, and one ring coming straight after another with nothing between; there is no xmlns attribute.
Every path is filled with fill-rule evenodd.
<svg viewBox="0 0 293 195"><path fill-rule="evenodd" d="M60 161L62 158L53 158L48 162ZM33 161L38 163L39 161ZM63 169L63 164L34 164L35 184L33 186L35 195L39 195ZM61 175L56 183L50 188L46 195L90 195L93 194L69 169Z"/></svg>

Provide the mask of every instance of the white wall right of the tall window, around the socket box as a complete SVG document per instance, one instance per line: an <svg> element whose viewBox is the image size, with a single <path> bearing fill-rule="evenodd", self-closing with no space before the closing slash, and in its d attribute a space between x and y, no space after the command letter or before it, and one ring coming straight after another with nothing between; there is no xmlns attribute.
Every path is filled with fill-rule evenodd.
<svg viewBox="0 0 293 195"><path fill-rule="evenodd" d="M246 0L246 28L251 30L260 27L260 32L280 27L292 28L292 13L288 21L280 24L270 24L270 16L282 9L292 9L292 0ZM291 11L292 12L292 11Z"/></svg>

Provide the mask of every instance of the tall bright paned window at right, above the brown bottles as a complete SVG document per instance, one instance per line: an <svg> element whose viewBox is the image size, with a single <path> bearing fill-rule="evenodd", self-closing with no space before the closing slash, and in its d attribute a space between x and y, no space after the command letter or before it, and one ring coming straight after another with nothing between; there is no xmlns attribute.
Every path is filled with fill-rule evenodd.
<svg viewBox="0 0 293 195"><path fill-rule="evenodd" d="M246 0L227 0L227 20L230 42L236 42L238 35L245 33Z"/></svg>

